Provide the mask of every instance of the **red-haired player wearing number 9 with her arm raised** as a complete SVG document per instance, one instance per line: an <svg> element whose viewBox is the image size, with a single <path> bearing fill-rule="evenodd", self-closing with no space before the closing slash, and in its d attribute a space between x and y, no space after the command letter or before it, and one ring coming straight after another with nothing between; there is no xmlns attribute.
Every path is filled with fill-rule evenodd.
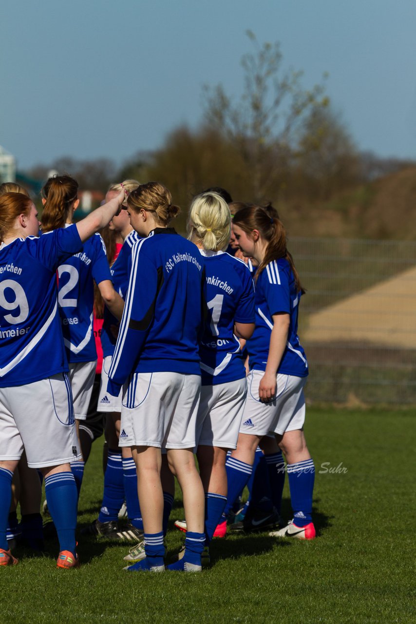
<svg viewBox="0 0 416 624"><path fill-rule="evenodd" d="M7 549L11 480L23 448L45 477L59 537L57 567L79 565L75 553L77 488L70 462L80 457L68 364L58 313L56 271L119 211L124 193L67 229L37 238L30 198L0 197L0 565ZM22 382L24 382L22 384Z"/></svg>

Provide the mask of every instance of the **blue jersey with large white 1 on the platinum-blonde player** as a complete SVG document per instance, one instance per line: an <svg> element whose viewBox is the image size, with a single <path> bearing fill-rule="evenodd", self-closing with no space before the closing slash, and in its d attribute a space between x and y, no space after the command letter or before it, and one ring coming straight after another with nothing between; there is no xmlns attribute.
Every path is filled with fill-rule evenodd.
<svg viewBox="0 0 416 624"><path fill-rule="evenodd" d="M228 383L246 376L234 324L254 323L254 286L248 266L223 251L205 256L208 319L200 345L203 386Z"/></svg>

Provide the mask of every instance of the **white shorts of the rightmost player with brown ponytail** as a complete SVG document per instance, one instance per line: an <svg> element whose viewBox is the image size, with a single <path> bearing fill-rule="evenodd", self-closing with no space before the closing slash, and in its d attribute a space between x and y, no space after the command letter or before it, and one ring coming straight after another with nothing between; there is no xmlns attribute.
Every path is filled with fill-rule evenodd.
<svg viewBox="0 0 416 624"><path fill-rule="evenodd" d="M244 407L240 433L266 436L302 429L305 422L306 377L278 374L276 397L269 403L259 399L259 384L263 371L251 371L247 377L247 401Z"/></svg>

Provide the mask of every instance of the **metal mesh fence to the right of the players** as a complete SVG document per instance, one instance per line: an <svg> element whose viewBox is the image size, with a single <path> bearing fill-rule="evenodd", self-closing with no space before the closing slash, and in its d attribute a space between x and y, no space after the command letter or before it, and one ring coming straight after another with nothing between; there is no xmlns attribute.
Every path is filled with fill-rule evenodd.
<svg viewBox="0 0 416 624"><path fill-rule="evenodd" d="M307 398L416 405L416 243L291 238Z"/></svg>

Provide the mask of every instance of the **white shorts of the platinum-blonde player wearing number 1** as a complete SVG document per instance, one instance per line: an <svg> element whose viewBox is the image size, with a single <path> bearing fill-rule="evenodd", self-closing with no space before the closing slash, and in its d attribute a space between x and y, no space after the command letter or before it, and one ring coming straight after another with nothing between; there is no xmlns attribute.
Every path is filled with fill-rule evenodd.
<svg viewBox="0 0 416 624"><path fill-rule="evenodd" d="M236 449L246 394L245 377L218 386L201 386L196 444Z"/></svg>

